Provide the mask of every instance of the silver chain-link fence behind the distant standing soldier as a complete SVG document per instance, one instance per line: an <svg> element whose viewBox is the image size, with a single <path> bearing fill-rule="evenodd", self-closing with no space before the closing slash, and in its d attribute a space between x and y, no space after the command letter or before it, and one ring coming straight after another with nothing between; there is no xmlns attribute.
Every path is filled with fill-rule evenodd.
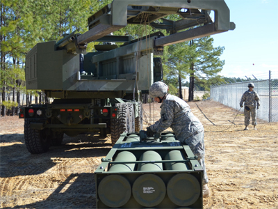
<svg viewBox="0 0 278 209"><path fill-rule="evenodd" d="M239 102L250 82L211 86L211 99L228 107L240 109ZM261 106L257 116L268 122L278 122L278 79L252 81L254 91L259 94Z"/></svg>

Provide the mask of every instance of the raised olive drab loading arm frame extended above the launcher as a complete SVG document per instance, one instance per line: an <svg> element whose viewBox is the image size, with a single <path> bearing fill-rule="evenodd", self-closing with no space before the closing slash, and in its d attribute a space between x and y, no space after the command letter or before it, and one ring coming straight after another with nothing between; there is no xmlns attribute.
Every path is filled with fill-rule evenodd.
<svg viewBox="0 0 278 209"><path fill-rule="evenodd" d="M212 10L213 20L209 15ZM163 18L172 14L179 15L181 20ZM114 0L89 17L89 31L76 38L76 45L79 49L85 49L88 42L103 38L127 24L142 23L150 24L154 29L170 31L170 36L155 41L155 47L210 36L234 30L236 27L234 22L229 20L229 8L224 0ZM190 29L192 27L194 28ZM185 29L190 30L178 32Z"/></svg>

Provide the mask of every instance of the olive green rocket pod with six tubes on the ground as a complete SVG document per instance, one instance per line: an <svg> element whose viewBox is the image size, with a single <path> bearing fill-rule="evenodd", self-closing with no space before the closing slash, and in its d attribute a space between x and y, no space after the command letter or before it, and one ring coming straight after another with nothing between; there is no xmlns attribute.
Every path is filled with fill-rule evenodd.
<svg viewBox="0 0 278 209"><path fill-rule="evenodd" d="M203 174L174 133L123 133L95 171L97 208L203 208Z"/></svg>

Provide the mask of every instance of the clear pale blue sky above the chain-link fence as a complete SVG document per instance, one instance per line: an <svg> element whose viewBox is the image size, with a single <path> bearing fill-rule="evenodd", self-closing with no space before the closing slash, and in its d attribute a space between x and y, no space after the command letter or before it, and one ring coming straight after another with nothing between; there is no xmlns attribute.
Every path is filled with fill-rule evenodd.
<svg viewBox="0 0 278 209"><path fill-rule="evenodd" d="M278 79L278 0L224 1L236 29L211 36L214 47L225 47L220 75L268 79L271 70Z"/></svg>

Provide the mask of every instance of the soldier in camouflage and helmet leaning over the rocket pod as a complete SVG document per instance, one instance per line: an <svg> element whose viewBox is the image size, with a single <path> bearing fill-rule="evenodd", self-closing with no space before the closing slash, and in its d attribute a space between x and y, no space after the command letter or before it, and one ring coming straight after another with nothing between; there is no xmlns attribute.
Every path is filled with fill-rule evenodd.
<svg viewBox="0 0 278 209"><path fill-rule="evenodd" d="M188 104L174 95L167 94L168 90L168 86L163 82L155 82L149 88L149 95L156 102L162 104L161 119L156 121L154 125L147 127L147 134L152 136L154 132L163 132L167 127L171 127L177 139L190 146L204 169L203 197L207 197L210 192L204 164L204 127L198 118L191 113Z"/></svg>

